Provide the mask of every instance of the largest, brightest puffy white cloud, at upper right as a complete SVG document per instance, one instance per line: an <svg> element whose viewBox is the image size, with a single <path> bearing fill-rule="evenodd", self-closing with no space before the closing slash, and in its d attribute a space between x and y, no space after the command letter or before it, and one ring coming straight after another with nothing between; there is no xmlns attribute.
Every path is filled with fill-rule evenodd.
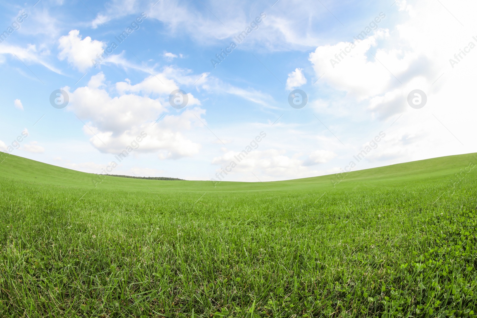
<svg viewBox="0 0 477 318"><path fill-rule="evenodd" d="M321 83L367 104L379 119L409 111L406 98L414 89L427 95L442 91L445 79L434 82L446 69L450 71L449 58L471 40L458 23L450 23L454 18L448 11L432 1L411 5L398 0L396 6L402 12L401 24L369 29L364 40L319 46L309 59L317 77L325 73ZM466 6L476 8L472 1L466 1ZM470 16L467 21L471 23ZM349 107L355 109L356 103Z"/></svg>

